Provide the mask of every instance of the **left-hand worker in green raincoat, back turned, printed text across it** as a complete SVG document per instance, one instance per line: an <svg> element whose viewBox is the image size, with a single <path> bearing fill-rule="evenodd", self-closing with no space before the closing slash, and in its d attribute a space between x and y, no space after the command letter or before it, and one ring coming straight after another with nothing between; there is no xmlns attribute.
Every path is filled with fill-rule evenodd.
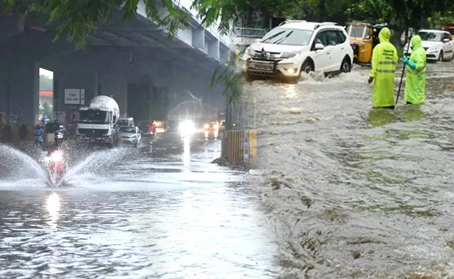
<svg viewBox="0 0 454 279"><path fill-rule="evenodd" d="M372 70L370 71L369 84L374 82L372 104L374 107L394 109L394 75L397 65L397 50L389 42L391 31L388 27L379 33L380 43L372 51Z"/></svg>

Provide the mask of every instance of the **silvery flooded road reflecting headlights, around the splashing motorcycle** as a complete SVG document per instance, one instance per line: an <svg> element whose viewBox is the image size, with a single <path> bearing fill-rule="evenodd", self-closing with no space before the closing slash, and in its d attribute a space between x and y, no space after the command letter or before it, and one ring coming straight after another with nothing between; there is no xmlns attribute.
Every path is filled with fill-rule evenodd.
<svg viewBox="0 0 454 279"><path fill-rule="evenodd" d="M49 188L0 146L0 278L278 278L263 206L244 174L210 164L219 149L163 137L73 154Z"/></svg>

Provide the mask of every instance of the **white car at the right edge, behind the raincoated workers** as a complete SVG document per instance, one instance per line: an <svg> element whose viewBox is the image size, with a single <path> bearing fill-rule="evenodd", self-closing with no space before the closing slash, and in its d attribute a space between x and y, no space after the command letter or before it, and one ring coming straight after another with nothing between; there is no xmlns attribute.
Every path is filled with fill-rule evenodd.
<svg viewBox="0 0 454 279"><path fill-rule="evenodd" d="M427 60L449 61L453 59L454 40L451 33L443 30L423 29L418 32ZM405 56L411 54L412 47L404 45ZM408 52L407 52L408 50Z"/></svg>

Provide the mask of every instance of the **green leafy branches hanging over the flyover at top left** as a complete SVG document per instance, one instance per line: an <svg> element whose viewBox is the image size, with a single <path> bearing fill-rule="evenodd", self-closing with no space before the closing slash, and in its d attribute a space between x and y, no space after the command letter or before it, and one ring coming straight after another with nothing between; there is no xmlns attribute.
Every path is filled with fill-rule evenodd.
<svg viewBox="0 0 454 279"><path fill-rule="evenodd" d="M172 0L144 0L149 20L159 27L166 27L169 38L175 38L177 31L189 27L191 14L178 8ZM54 40L66 36L78 48L85 45L87 33L96 25L121 10L125 21L136 17L139 0L3 0L1 13L29 13L47 17L47 24L57 24Z"/></svg>

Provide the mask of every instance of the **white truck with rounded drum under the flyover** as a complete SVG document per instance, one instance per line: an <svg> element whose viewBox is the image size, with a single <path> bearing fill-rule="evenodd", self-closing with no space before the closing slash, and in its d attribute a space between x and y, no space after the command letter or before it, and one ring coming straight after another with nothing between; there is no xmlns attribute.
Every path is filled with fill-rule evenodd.
<svg viewBox="0 0 454 279"><path fill-rule="evenodd" d="M96 96L87 107L80 107L76 135L89 144L118 144L116 124L119 118L117 102L109 96Z"/></svg>

